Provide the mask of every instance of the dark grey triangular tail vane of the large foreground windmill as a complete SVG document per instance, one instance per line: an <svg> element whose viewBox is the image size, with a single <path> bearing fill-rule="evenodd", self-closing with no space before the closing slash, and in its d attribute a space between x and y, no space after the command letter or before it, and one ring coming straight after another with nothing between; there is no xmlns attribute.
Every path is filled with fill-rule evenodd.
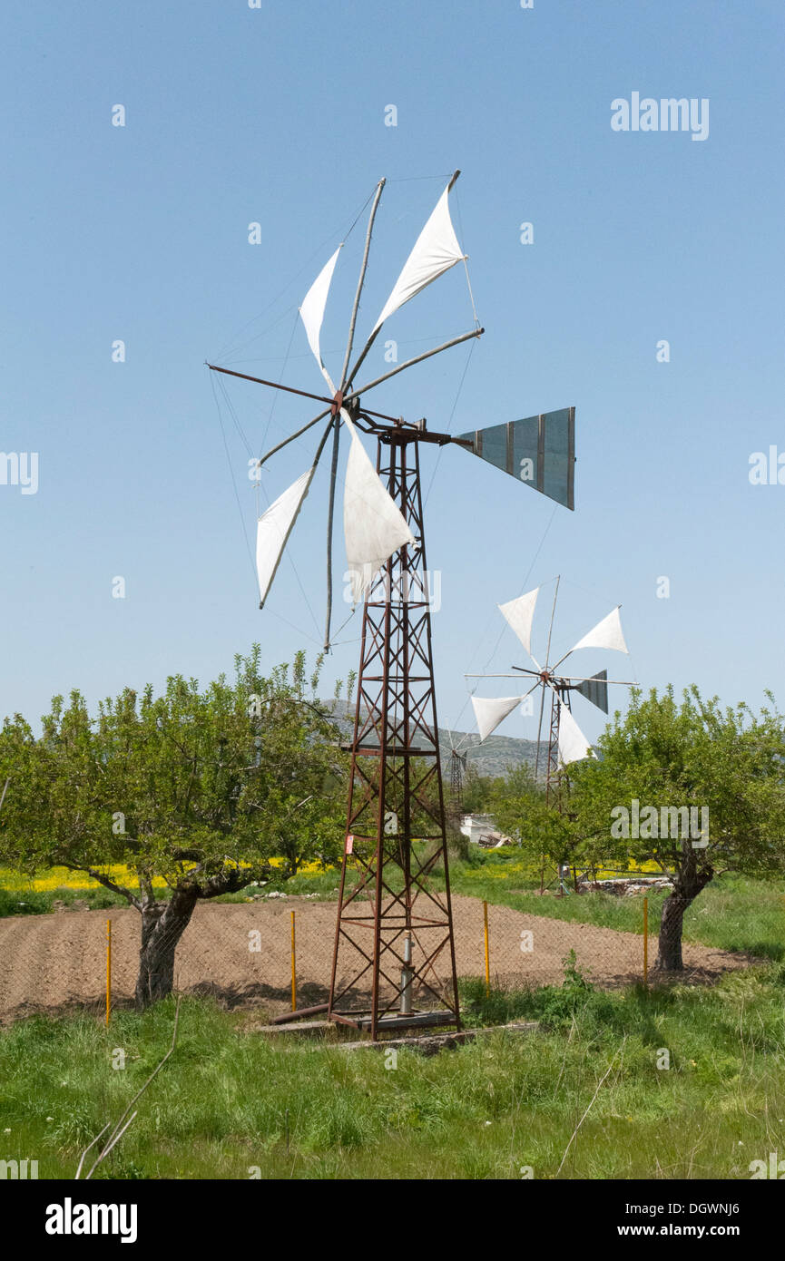
<svg viewBox="0 0 785 1261"><path fill-rule="evenodd" d="M575 507L574 407L476 429L453 441L563 507Z"/></svg>

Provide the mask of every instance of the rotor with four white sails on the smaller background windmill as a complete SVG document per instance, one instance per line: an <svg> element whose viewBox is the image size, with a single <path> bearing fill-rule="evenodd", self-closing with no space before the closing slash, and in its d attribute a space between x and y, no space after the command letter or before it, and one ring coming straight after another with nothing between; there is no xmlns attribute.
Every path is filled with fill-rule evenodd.
<svg viewBox="0 0 785 1261"><path fill-rule="evenodd" d="M535 668L526 666L514 666L515 675L467 675L467 678L520 678L528 676L534 682L521 696L482 697L472 696L475 718L480 731L480 741L487 739L499 724L516 709L528 696L540 690L540 719L536 736L536 763L535 776L545 776L545 799L549 801L555 791L560 772L570 762L581 762L583 758L594 757L591 752L589 741L575 723L572 715L570 694L578 692L587 701L596 705L603 714L608 712L608 685L617 683L622 687L635 687L635 682L621 678L608 678L607 670L601 670L596 675L565 675L559 667L573 653L581 648L612 648L615 652L629 653L625 637L621 629L621 618L617 605L607 617L598 622L596 627L583 636L578 643L573 644L563 657L550 665L550 641L553 636L553 623L557 612L557 596L559 594L559 581L553 596L550 610L550 625L548 628L548 644L545 648L545 665L541 666L531 652L531 623L536 607L540 588L526 591L516 600L500 604L499 610L507 620L524 648L531 657ZM541 758L543 745L543 719L545 715L545 701L550 700L550 723L548 735L548 752L545 759ZM544 764L543 764L544 763ZM560 803L559 803L560 805Z"/></svg>

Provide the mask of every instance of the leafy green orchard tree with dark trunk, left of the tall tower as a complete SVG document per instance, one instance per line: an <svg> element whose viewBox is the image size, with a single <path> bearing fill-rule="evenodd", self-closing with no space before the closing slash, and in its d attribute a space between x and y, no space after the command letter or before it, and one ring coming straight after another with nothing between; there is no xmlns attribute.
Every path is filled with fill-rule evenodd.
<svg viewBox="0 0 785 1261"><path fill-rule="evenodd" d="M135 907L139 1008L172 991L197 902L339 856L346 759L317 700L319 668L307 678L298 653L264 677L255 646L232 682L201 690L175 675L160 696L125 689L95 718L74 691L54 697L40 735L5 720L0 857L30 875L86 873ZM127 885L117 864L134 873Z"/></svg>

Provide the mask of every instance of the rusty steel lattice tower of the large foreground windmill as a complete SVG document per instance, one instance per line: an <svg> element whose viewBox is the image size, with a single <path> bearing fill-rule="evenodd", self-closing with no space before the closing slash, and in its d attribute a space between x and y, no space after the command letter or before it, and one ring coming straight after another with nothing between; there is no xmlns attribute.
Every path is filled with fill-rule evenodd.
<svg viewBox="0 0 785 1261"><path fill-rule="evenodd" d="M458 982L439 762L419 441L377 435L376 468L415 546L396 551L362 615L347 840L329 994L333 1020L370 1029L459 1026ZM418 855L413 841L425 842ZM444 892L429 876L443 871ZM356 871L357 884L348 878ZM410 942L410 946L408 944ZM440 976L435 963L440 963ZM371 982L371 1009L362 992ZM420 1002L423 1010L415 1010Z"/></svg>

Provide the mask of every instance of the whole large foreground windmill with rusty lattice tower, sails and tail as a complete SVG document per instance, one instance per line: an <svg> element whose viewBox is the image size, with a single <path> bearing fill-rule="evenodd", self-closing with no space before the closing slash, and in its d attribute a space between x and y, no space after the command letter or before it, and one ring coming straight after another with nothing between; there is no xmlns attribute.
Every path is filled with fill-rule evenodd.
<svg viewBox="0 0 785 1261"><path fill-rule="evenodd" d="M341 246L308 290L300 317L328 395L208 364L211 371L286 390L326 404L313 420L278 443L260 465L319 421L326 427L310 467L257 522L256 567L264 605L319 458L332 438L327 499L327 615L324 647L331 643L332 533L341 430L350 438L343 496L343 531L355 604L362 603L362 632L351 754L345 854L328 1016L370 1030L454 1024L459 1026L452 903L447 864L444 791L439 762L433 673L430 603L420 446L454 444L559 503L573 507L574 407L543 412L453 436L427 421L405 421L365 405L371 390L416 363L483 333L475 328L398 364L365 385L355 382L379 332L395 311L456 264L464 262L449 216L456 171L420 232L365 346L352 363L360 300L371 233L385 180L375 190L360 277L350 315L347 346L337 386L326 367L319 334ZM468 282L468 271L467 271ZM471 295L471 288L469 288ZM473 304L472 304L473 305ZM360 439L376 439L371 463ZM427 841L424 856L413 839ZM439 869L444 892L430 876ZM351 886L351 876L357 883ZM447 960L449 982L435 972ZM362 1006L362 982L371 982L371 1008ZM414 1000L430 1008L414 1010Z"/></svg>

